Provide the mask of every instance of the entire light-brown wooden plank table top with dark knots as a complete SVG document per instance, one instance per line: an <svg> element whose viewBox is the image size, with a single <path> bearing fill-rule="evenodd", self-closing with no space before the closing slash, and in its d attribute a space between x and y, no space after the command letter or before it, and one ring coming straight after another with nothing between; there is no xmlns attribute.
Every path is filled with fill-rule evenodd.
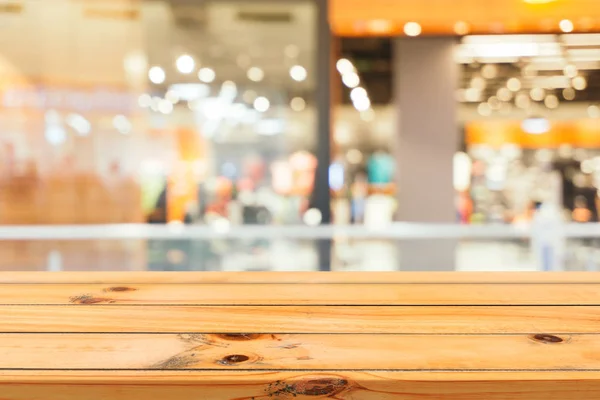
<svg viewBox="0 0 600 400"><path fill-rule="evenodd" d="M0 273L0 400L600 399L597 273Z"/></svg>

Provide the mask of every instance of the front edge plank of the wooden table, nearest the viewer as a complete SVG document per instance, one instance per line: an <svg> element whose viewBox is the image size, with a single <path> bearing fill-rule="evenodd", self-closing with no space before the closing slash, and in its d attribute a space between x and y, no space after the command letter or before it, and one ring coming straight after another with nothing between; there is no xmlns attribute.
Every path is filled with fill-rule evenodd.
<svg viewBox="0 0 600 400"><path fill-rule="evenodd" d="M597 378L597 372L0 371L0 398L592 400L600 398Z"/></svg>

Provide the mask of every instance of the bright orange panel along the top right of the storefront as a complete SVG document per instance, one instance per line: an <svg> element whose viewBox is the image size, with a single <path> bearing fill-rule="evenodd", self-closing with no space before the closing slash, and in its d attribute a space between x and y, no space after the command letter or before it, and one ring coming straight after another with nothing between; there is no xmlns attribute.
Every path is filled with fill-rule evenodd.
<svg viewBox="0 0 600 400"><path fill-rule="evenodd" d="M535 2L536 0L529 0ZM330 0L333 31L340 36L403 34L418 22L424 35L600 32L600 0ZM466 28L466 29L465 29Z"/></svg>

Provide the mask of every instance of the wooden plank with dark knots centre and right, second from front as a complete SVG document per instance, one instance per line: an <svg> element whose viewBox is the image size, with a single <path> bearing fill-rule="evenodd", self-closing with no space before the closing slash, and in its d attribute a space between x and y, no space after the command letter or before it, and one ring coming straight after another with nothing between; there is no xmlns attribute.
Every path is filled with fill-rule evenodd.
<svg viewBox="0 0 600 400"><path fill-rule="evenodd" d="M1 334L2 369L600 372L600 335Z"/></svg>

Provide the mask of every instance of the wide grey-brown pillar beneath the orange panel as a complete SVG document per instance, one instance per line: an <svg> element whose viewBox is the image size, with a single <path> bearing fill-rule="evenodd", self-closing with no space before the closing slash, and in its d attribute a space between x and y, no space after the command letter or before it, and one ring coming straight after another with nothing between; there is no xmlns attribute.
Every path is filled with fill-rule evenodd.
<svg viewBox="0 0 600 400"><path fill-rule="evenodd" d="M398 219L454 223L452 161L458 147L454 38L396 40ZM456 241L408 240L401 269L452 270Z"/></svg>

